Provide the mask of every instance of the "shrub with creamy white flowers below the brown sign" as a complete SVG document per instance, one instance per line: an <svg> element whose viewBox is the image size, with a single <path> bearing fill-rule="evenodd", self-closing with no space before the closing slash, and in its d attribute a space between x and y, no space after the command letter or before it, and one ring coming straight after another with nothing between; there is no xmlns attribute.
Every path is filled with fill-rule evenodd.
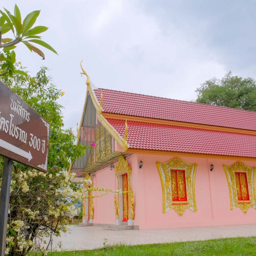
<svg viewBox="0 0 256 256"><path fill-rule="evenodd" d="M76 202L82 189L73 182L74 174L44 174L36 170L15 168L11 182L6 254L27 255L37 250L46 253L52 238L66 232L68 218L78 215Z"/></svg>

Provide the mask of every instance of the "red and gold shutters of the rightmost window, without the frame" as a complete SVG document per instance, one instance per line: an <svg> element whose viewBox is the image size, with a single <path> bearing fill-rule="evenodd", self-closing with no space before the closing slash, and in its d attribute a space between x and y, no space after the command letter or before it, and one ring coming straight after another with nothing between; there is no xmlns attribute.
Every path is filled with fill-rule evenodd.
<svg viewBox="0 0 256 256"><path fill-rule="evenodd" d="M249 191L246 172L235 172L236 192L238 201L249 201Z"/></svg>

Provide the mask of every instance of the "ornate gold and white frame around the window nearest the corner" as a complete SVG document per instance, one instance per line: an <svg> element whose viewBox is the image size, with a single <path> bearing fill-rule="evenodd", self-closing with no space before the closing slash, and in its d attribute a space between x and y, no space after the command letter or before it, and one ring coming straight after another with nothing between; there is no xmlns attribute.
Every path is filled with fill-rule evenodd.
<svg viewBox="0 0 256 256"><path fill-rule="evenodd" d="M194 182L196 176L197 164L188 164L180 158L173 158L167 162L156 162L160 181L162 185L163 213L170 209L174 209L176 213L182 215L186 209L196 212L196 197L194 192ZM187 201L173 201L175 197L175 187L171 184L171 170L184 170L186 180ZM175 183L176 186L176 183ZM172 192L174 191L174 192Z"/></svg>

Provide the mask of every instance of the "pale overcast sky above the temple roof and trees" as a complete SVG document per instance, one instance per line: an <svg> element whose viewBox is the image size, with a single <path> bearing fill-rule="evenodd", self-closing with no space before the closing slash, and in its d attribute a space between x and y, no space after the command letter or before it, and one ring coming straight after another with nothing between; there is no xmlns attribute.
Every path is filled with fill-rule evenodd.
<svg viewBox="0 0 256 256"><path fill-rule="evenodd" d="M193 100L205 80L232 71L256 78L255 0L9 0L22 19L41 10L35 25L49 27L42 60L23 45L16 58L34 75L50 68L65 91L65 127L76 130L86 93L86 77L100 88L178 100ZM104 97L103 97L104 101Z"/></svg>

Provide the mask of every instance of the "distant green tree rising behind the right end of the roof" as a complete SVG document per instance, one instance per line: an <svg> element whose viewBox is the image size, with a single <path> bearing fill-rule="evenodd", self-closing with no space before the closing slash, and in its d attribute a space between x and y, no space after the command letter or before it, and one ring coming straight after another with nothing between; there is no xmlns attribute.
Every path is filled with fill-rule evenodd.
<svg viewBox="0 0 256 256"><path fill-rule="evenodd" d="M234 76L231 72L222 79L212 78L196 90L198 103L256 111L256 81Z"/></svg>

